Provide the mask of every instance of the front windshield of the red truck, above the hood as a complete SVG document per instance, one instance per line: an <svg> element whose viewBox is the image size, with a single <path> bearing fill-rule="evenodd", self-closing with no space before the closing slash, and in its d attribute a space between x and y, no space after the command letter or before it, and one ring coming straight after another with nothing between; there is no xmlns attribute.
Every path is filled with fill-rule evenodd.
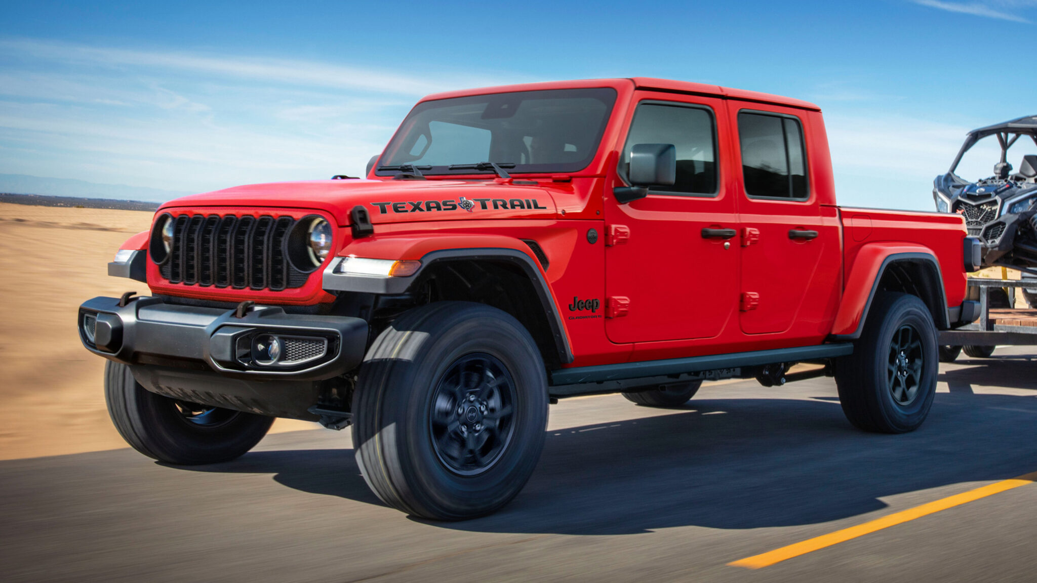
<svg viewBox="0 0 1037 583"><path fill-rule="evenodd" d="M594 158L615 101L615 89L591 88L424 102L403 120L375 173L392 176L411 165L426 175L493 174L473 169L484 162L510 173L576 172Z"/></svg>

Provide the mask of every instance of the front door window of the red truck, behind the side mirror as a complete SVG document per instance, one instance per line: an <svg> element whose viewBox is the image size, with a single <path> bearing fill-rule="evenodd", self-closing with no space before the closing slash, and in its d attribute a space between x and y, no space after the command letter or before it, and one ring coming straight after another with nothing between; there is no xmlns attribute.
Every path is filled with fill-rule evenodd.
<svg viewBox="0 0 1037 583"><path fill-rule="evenodd" d="M623 147L620 171L625 175L635 144L673 144L677 149L677 179L672 187L652 192L717 193L717 132L712 112L677 104L638 106Z"/></svg>

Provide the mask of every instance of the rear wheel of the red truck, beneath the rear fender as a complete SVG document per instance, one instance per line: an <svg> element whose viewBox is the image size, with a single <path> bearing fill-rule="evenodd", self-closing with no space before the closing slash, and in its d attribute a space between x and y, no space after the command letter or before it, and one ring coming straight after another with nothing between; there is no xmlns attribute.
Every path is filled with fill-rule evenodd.
<svg viewBox="0 0 1037 583"><path fill-rule="evenodd" d="M876 298L853 354L836 363L846 418L867 432L917 429L935 395L936 358L936 328L925 304L906 294Z"/></svg>

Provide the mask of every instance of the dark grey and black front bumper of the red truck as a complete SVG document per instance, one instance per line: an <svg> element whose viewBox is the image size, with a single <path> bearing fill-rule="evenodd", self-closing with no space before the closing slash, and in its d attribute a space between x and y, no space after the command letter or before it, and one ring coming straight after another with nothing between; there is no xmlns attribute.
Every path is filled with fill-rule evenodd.
<svg viewBox="0 0 1037 583"><path fill-rule="evenodd" d="M359 317L169 304L162 298L99 297L79 308L83 345L128 364L146 389L173 398L280 417L312 418L321 387L357 368L367 345ZM282 356L255 358L278 337Z"/></svg>

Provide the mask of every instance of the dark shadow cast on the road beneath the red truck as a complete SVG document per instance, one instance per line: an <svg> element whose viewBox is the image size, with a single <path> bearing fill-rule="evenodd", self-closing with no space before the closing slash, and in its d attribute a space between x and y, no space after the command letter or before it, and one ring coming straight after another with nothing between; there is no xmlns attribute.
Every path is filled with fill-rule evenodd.
<svg viewBox="0 0 1037 583"><path fill-rule="evenodd" d="M1035 415L1033 397L940 393L918 432L876 435L822 397L696 399L682 412L549 432L532 479L496 515L412 520L591 535L829 522L881 509L884 497L1037 470ZM257 451L196 470L273 473L288 488L380 504L352 453Z"/></svg>

